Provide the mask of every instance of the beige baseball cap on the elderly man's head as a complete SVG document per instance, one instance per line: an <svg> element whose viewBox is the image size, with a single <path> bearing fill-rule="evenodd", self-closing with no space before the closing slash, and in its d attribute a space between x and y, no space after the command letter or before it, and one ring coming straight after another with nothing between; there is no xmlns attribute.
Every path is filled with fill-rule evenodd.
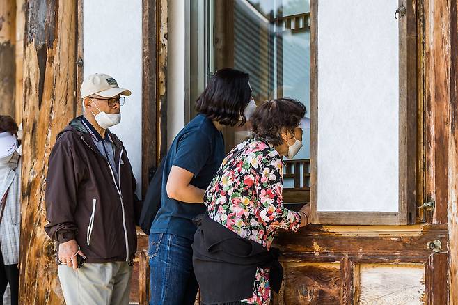
<svg viewBox="0 0 458 305"><path fill-rule="evenodd" d="M113 97L118 94L129 96L132 94L128 89L119 88L116 79L103 73L95 73L86 77L81 84L80 91L83 98L93 94L101 97Z"/></svg>

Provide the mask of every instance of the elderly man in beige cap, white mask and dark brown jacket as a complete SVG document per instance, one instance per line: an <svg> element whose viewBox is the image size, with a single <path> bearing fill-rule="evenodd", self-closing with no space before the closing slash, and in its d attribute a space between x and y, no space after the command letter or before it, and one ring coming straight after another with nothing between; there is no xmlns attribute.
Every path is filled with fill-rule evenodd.
<svg viewBox="0 0 458 305"><path fill-rule="evenodd" d="M83 116L58 134L49 156L45 230L58 242L68 305L129 303L141 201L127 152L109 127L120 123L120 95L130 94L109 75L90 75L81 85Z"/></svg>

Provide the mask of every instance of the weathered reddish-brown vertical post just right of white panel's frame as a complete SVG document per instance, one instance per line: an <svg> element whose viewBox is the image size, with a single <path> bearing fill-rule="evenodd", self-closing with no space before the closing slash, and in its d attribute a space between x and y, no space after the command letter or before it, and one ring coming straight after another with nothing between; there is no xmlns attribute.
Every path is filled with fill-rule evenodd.
<svg viewBox="0 0 458 305"><path fill-rule="evenodd" d="M453 2L453 1L452 1ZM450 167L450 3L424 1L425 198L436 201L428 221L446 224ZM455 54L456 56L456 54Z"/></svg>

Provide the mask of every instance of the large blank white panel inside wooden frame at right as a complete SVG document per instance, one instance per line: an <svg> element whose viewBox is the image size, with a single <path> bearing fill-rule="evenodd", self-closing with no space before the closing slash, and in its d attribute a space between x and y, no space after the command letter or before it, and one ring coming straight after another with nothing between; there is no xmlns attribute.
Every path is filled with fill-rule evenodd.
<svg viewBox="0 0 458 305"><path fill-rule="evenodd" d="M318 2L319 211L398 210L397 7Z"/></svg>

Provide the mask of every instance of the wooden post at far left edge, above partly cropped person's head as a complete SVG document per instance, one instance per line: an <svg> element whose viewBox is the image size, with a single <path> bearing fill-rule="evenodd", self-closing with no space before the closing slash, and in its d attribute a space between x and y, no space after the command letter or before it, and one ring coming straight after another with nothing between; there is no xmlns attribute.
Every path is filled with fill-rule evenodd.
<svg viewBox="0 0 458 305"><path fill-rule="evenodd" d="M15 117L15 0L0 1L0 114Z"/></svg>

